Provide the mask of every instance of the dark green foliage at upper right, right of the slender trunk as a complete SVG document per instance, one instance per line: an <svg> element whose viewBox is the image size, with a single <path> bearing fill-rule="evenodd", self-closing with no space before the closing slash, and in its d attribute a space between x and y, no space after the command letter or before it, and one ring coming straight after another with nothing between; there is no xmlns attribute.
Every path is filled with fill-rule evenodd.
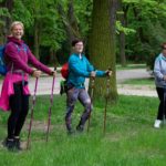
<svg viewBox="0 0 166 166"><path fill-rule="evenodd" d="M153 69L159 45L166 39L166 1L123 0L128 6L127 27L136 31L126 38L127 59L135 62L146 61Z"/></svg>

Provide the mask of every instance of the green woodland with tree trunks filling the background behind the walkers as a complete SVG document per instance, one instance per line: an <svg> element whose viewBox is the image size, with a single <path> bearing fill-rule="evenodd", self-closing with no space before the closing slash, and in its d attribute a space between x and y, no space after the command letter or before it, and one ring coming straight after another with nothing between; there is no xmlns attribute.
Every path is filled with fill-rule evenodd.
<svg viewBox="0 0 166 166"><path fill-rule="evenodd" d="M114 71L113 98L117 96L115 63L153 66L166 41L166 0L0 0L0 43L13 20L24 23L24 40L49 65L68 61L72 39L83 38L94 65ZM96 87L96 95L104 95L102 81Z"/></svg>

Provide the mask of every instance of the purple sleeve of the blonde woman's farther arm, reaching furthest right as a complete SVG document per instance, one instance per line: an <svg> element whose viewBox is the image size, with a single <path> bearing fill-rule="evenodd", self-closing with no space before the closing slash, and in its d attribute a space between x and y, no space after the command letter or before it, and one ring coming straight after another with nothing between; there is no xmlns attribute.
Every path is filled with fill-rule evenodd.
<svg viewBox="0 0 166 166"><path fill-rule="evenodd" d="M52 71L44 64L42 64L35 56L32 54L30 49L28 48L28 61L35 66L37 69L41 70L42 72L51 75Z"/></svg>

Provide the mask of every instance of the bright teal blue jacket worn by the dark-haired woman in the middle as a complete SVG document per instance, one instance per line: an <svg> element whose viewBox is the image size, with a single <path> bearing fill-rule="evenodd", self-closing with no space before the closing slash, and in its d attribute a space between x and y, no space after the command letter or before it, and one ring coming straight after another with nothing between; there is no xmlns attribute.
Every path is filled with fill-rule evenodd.
<svg viewBox="0 0 166 166"><path fill-rule="evenodd" d="M96 72L96 76L106 75L105 71L94 70L84 54L80 58L76 53L70 55L69 71L68 84L72 83L77 89L84 87L85 77L90 77L92 71Z"/></svg>

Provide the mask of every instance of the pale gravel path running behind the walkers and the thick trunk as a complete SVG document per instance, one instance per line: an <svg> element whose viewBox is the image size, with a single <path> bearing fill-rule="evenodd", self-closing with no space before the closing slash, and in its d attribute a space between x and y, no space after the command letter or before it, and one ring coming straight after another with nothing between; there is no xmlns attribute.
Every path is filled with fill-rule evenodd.
<svg viewBox="0 0 166 166"><path fill-rule="evenodd" d="M146 71L146 69L134 69L134 70L123 70L116 72L117 77L117 91L118 94L125 94L125 95L141 95L141 96L157 96L155 91L155 85L153 87L144 85L124 85L122 84L123 81L128 79L148 79L151 77L149 73ZM58 74L55 79L55 87L54 87L54 94L60 93L60 81L62 80L61 75ZM30 77L29 86L31 94L33 94L34 91L34 83L35 79ZM0 89L1 89L2 81L0 82ZM86 80L86 86L89 84L89 80ZM52 86L52 77L50 76L42 76L39 79L38 83L38 95L42 94L50 94L51 93L51 86Z"/></svg>

